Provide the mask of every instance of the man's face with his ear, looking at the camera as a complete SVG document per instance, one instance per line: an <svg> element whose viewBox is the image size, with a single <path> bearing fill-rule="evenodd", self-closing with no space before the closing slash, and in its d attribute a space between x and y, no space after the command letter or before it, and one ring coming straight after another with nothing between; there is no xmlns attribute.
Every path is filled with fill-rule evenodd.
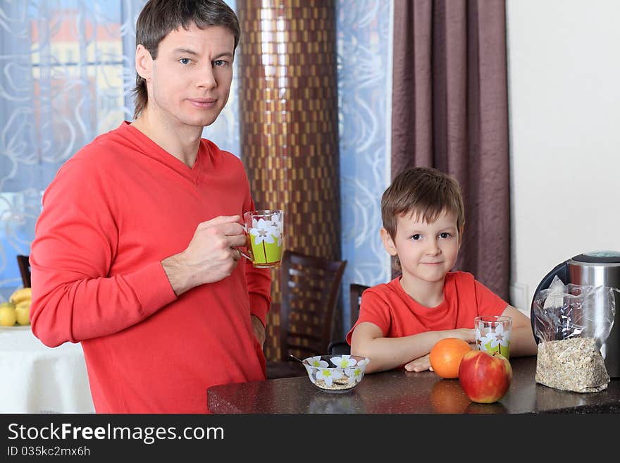
<svg viewBox="0 0 620 463"><path fill-rule="evenodd" d="M213 123L228 101L234 48L235 37L226 27L196 25L166 35L155 60L140 45L136 68L147 81L149 117L176 127Z"/></svg>

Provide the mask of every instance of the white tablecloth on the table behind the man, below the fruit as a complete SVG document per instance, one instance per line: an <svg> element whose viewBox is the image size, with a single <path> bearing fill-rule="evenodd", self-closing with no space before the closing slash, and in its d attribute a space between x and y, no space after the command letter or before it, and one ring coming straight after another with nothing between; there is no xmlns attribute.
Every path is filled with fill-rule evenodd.
<svg viewBox="0 0 620 463"><path fill-rule="evenodd" d="M94 413L82 345L0 327L0 413Z"/></svg>

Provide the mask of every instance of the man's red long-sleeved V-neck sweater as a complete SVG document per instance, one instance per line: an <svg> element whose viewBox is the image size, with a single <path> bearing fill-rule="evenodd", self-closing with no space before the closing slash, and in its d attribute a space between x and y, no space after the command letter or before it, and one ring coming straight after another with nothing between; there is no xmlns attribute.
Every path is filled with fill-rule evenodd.
<svg viewBox="0 0 620 463"><path fill-rule="evenodd" d="M80 149L43 198L32 242L32 331L81 342L98 413L207 412L211 385L264 379L250 314L271 276L233 274L175 297L161 261L199 223L255 209L244 167L200 142L192 168L125 122Z"/></svg>

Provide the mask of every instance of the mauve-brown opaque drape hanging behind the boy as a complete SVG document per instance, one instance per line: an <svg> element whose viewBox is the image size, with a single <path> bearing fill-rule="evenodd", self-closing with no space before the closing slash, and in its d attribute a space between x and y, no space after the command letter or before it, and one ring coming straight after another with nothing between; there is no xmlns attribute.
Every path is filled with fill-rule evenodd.
<svg viewBox="0 0 620 463"><path fill-rule="evenodd" d="M395 0L392 178L454 175L465 202L456 268L508 300L510 209L504 0Z"/></svg>

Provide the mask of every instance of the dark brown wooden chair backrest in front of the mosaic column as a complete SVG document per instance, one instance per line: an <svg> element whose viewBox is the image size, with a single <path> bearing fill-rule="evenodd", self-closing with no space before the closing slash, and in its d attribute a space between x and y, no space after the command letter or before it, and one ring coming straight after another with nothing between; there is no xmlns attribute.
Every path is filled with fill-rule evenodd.
<svg viewBox="0 0 620 463"><path fill-rule="evenodd" d="M286 250L282 258L280 359L324 355L335 319L342 273L347 261Z"/></svg>

